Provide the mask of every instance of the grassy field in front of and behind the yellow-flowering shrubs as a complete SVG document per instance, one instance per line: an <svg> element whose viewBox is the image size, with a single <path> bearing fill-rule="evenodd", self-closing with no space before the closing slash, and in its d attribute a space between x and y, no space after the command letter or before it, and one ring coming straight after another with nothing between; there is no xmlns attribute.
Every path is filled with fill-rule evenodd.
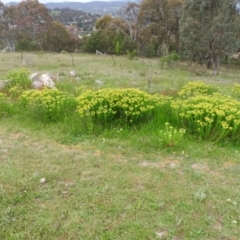
<svg viewBox="0 0 240 240"><path fill-rule="evenodd" d="M73 66L70 54L0 53L0 61L0 79L26 67L72 94L88 86L175 96L189 81L223 92L240 83L236 68L213 76L159 59L79 54ZM162 147L150 126L74 135L64 124L0 120L0 239L239 239L239 146L187 135Z"/></svg>

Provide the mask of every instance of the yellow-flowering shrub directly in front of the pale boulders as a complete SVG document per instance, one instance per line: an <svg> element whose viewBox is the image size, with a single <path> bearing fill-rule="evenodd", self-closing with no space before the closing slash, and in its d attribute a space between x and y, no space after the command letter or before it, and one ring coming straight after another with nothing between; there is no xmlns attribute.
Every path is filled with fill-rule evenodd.
<svg viewBox="0 0 240 240"><path fill-rule="evenodd" d="M57 89L25 91L20 100L34 118L43 122L62 120L76 108L75 98Z"/></svg>

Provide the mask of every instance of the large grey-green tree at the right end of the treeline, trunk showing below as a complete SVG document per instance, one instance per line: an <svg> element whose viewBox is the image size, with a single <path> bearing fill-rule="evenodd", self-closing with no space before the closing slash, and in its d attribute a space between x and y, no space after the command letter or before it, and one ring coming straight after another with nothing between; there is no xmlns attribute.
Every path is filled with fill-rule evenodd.
<svg viewBox="0 0 240 240"><path fill-rule="evenodd" d="M180 20L181 55L211 64L238 49L240 19L235 0L185 0Z"/></svg>

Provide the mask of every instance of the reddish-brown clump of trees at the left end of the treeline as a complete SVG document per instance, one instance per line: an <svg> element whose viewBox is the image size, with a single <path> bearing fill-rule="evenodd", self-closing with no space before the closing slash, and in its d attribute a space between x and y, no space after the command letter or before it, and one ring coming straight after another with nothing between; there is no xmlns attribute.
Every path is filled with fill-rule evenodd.
<svg viewBox="0 0 240 240"><path fill-rule="evenodd" d="M18 5L0 2L0 44L9 51L74 51L79 30L54 21L45 5L26 0Z"/></svg>

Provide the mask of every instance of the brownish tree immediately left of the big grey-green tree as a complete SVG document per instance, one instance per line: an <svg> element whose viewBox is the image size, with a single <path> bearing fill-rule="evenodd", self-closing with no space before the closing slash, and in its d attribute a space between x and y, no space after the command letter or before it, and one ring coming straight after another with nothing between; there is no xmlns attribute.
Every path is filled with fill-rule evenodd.
<svg viewBox="0 0 240 240"><path fill-rule="evenodd" d="M142 0L139 11L140 39L158 50L162 44L178 51L178 26L182 0Z"/></svg>

